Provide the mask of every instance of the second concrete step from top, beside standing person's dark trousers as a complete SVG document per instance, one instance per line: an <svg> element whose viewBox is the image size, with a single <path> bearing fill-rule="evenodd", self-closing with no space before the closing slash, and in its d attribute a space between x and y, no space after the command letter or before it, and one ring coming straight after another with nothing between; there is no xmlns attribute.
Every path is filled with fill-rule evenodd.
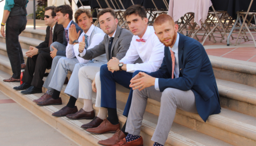
<svg viewBox="0 0 256 146"><path fill-rule="evenodd" d="M0 42L5 43L5 37L3 37L2 35L0 35ZM43 42L43 40L38 40L26 36L19 36L19 42L21 48L28 50L29 46L38 46L40 43Z"/></svg>

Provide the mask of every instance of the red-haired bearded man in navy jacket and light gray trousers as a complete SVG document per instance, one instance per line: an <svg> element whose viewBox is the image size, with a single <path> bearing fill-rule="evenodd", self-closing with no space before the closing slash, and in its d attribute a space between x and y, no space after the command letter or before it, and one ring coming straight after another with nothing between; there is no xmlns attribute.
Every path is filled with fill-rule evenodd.
<svg viewBox="0 0 256 146"><path fill-rule="evenodd" d="M161 102L158 124L151 139L155 141L153 146L165 144L177 108L198 113L204 121L220 113L219 93L209 57L201 43L177 33L178 28L169 15L162 14L155 19L155 34L165 45L165 57L158 71L140 72L131 80L134 92L125 129L129 134L113 146L143 145L139 135L148 98Z"/></svg>

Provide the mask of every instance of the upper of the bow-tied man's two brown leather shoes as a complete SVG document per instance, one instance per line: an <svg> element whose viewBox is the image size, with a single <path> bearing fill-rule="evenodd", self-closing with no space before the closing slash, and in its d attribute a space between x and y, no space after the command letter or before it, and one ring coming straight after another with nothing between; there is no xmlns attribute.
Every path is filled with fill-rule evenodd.
<svg viewBox="0 0 256 146"><path fill-rule="evenodd" d="M108 119L104 119L100 126L96 128L89 128L86 131L94 134L104 134L104 133L116 133L120 129L120 123L117 125L111 124Z"/></svg>

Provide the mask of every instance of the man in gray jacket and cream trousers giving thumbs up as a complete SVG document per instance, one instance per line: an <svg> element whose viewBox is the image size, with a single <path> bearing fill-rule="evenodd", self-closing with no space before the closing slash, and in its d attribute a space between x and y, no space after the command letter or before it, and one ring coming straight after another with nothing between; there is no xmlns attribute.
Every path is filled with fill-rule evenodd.
<svg viewBox="0 0 256 146"><path fill-rule="evenodd" d="M83 43L79 44L80 56L86 60L91 60L96 56L106 53L107 60L109 61L112 57L122 59L131 42L132 33L129 30L120 28L118 20L115 17L115 12L112 9L104 9L98 13L98 20L101 29L106 33L104 40L94 48L90 50L83 49ZM79 98L84 99L84 107L75 114L67 115L69 119L93 119L94 110L92 109L92 91L96 92L94 86L95 79L99 78L100 67L98 66L83 66L80 68L78 73L79 78ZM95 78L95 79L94 79ZM93 83L92 83L92 80ZM100 83L97 83L97 91L100 92ZM99 94L99 93L97 93ZM101 109L100 104L96 104L100 107L100 112L94 118L91 123L82 125L83 128L97 127L103 119L105 119L106 110Z"/></svg>

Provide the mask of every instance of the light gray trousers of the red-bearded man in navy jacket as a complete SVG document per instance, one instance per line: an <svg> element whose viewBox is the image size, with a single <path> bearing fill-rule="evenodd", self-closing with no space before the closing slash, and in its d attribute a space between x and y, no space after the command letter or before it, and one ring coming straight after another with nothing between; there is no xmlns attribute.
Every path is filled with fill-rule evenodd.
<svg viewBox="0 0 256 146"><path fill-rule="evenodd" d="M168 138L177 108L190 113L197 113L195 95L192 90L182 91L166 88L161 93L155 90L155 86L141 91L134 90L125 132L132 135L140 135L143 114L145 113L148 98L161 102L158 123L151 140L162 145L165 144Z"/></svg>

